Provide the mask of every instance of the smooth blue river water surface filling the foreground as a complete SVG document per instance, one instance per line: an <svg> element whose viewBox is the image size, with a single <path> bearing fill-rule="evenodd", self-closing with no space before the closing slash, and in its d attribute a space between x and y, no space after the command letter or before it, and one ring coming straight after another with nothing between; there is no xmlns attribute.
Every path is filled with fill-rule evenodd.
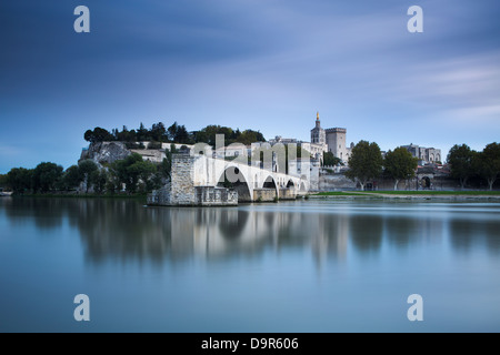
<svg viewBox="0 0 500 355"><path fill-rule="evenodd" d="M500 331L498 203L3 197L0 231L1 332Z"/></svg>

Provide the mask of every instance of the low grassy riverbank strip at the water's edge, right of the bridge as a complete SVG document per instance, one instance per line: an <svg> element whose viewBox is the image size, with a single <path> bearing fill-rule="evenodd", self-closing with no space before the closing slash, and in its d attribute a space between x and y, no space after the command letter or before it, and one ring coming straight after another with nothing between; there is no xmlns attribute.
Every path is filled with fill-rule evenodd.
<svg viewBox="0 0 500 355"><path fill-rule="evenodd" d="M387 199L499 201L500 191L331 191L309 195L310 199Z"/></svg>

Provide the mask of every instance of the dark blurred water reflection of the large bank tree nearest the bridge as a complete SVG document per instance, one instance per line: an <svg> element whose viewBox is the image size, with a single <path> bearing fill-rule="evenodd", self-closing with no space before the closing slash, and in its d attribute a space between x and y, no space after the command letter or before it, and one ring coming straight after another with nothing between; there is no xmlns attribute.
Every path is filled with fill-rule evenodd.
<svg viewBox="0 0 500 355"><path fill-rule="evenodd" d="M374 252L382 245L382 216L354 214L350 216L350 236L360 252Z"/></svg>

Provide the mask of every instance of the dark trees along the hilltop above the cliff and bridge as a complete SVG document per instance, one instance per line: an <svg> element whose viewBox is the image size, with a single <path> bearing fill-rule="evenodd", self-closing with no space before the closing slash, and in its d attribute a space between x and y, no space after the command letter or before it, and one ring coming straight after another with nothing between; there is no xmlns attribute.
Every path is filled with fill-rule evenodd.
<svg viewBox="0 0 500 355"><path fill-rule="evenodd" d="M97 126L93 130L87 130L83 134L83 139L88 142L103 142L103 141L120 141L120 142L163 142L163 143L180 143L180 144L194 144L194 143L208 143L209 145L216 145L216 134L224 135L224 145L231 143L242 143L249 145L253 142L266 142L264 136L259 131L231 129L221 125L207 125L199 131L188 132L183 124L173 122L169 128L162 122L154 123L151 129L144 128L140 124L137 130L128 130L126 125L119 131L113 129L110 131Z"/></svg>

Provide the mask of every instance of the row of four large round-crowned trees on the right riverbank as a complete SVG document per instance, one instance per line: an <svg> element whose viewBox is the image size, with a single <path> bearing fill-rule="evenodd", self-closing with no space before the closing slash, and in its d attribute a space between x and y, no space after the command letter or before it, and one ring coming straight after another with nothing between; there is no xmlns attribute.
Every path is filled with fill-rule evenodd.
<svg viewBox="0 0 500 355"><path fill-rule="evenodd" d="M468 145L453 145L448 154L451 176L460 180L463 189L468 179L476 176L487 181L489 190L500 176L500 144L490 143L482 152L476 152ZM386 176L394 180L394 190L401 180L412 179L417 171L417 158L402 146L388 151L386 156L374 142L360 141L352 149L349 170L346 176L358 181L361 190L374 179Z"/></svg>

